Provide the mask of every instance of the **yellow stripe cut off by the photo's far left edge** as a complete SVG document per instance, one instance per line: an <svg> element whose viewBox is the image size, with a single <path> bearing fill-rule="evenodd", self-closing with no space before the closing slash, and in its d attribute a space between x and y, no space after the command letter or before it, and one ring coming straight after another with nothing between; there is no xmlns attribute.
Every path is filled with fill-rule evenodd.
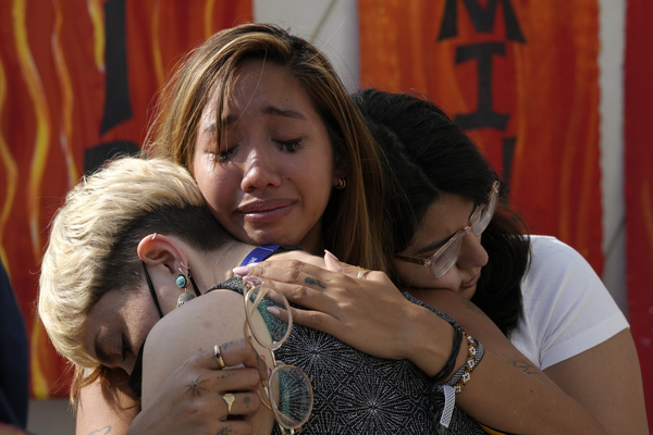
<svg viewBox="0 0 653 435"><path fill-rule="evenodd" d="M2 64L2 58L0 58L0 119L2 117L2 108L4 107L4 97L7 96L7 74L4 73L4 65ZM9 258L4 250L3 235L4 225L9 220L9 213L13 199L16 195L16 187L19 186L19 166L13 156L9 151L9 146L2 136L0 130L0 161L4 166L4 176L7 179L7 194L4 196L4 203L0 210L0 260L4 264L8 275L11 278L11 265L9 264Z"/></svg>

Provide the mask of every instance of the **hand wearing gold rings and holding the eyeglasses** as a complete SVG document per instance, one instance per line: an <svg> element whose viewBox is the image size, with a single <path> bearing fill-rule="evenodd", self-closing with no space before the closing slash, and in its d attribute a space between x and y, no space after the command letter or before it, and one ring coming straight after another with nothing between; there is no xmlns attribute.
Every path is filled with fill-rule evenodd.
<svg viewBox="0 0 653 435"><path fill-rule="evenodd" d="M244 368L220 370L213 350L190 357L161 386L130 426L127 434L252 433L242 417L258 411L257 388L268 378L266 363L246 339L220 346L225 365ZM231 412L224 395L235 400Z"/></svg>

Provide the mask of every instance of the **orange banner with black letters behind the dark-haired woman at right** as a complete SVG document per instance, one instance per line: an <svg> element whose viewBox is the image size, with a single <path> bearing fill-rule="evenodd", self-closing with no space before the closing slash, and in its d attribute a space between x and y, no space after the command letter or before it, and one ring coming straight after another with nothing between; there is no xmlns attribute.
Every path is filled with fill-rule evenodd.
<svg viewBox="0 0 653 435"><path fill-rule="evenodd" d="M428 95L601 274L596 0L358 0L361 87Z"/></svg>

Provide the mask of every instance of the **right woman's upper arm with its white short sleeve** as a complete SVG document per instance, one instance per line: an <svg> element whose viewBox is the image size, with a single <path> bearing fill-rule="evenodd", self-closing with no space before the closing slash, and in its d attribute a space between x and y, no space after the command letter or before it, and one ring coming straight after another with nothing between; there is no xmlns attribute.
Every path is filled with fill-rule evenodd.
<svg viewBox="0 0 653 435"><path fill-rule="evenodd" d="M538 349L544 373L607 433L648 434L637 350L619 308L578 251L552 237L531 241L522 283L528 322L513 341Z"/></svg>

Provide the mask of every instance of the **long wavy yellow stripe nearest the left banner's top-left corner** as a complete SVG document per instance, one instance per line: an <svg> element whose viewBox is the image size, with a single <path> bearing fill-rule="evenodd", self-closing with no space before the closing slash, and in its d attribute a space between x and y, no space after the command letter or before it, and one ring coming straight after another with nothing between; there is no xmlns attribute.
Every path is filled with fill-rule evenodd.
<svg viewBox="0 0 653 435"><path fill-rule="evenodd" d="M42 82L29 51L27 28L25 27L25 0L14 0L12 14L19 64L21 65L21 72L27 85L29 97L32 97L32 101L34 102L34 114L36 117L36 139L34 141L34 156L32 158L29 181L27 183L27 219L32 239L32 254L34 256L34 261L38 263L42 247L38 227L41 196L39 189L50 148L50 111Z"/></svg>

